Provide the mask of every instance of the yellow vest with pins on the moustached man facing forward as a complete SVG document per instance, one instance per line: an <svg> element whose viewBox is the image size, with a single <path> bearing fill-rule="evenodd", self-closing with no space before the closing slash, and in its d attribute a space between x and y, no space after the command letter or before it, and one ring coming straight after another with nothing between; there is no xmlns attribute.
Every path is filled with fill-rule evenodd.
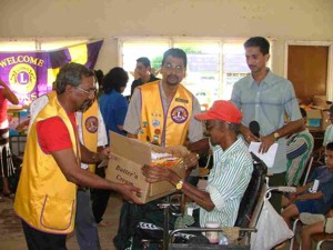
<svg viewBox="0 0 333 250"><path fill-rule="evenodd" d="M138 138L162 147L181 146L188 136L193 96L179 84L164 116L159 82L160 80L138 87L141 89L142 101L141 129Z"/></svg>

